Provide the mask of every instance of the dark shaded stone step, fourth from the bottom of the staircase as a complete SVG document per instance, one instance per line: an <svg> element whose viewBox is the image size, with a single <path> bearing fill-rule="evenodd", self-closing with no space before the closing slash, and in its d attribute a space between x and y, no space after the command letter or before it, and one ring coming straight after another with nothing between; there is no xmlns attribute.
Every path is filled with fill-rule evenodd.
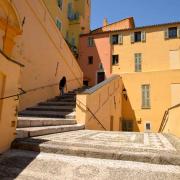
<svg viewBox="0 0 180 180"><path fill-rule="evenodd" d="M30 111L58 111L58 112L73 112L74 106L35 106L27 108Z"/></svg>

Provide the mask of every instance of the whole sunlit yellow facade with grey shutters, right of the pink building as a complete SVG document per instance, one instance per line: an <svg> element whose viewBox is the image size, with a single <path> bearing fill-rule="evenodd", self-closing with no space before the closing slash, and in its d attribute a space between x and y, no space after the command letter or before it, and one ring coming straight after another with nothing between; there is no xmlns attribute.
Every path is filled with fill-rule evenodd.
<svg viewBox="0 0 180 180"><path fill-rule="evenodd" d="M114 35L120 42L112 43L112 74L121 75L128 97L122 104L123 128L158 132L165 111L180 102L180 23Z"/></svg>

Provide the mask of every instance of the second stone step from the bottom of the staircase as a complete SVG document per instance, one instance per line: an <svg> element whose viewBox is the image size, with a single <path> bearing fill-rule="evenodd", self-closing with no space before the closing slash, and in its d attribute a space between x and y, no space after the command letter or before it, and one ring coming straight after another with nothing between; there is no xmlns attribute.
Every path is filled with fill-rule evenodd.
<svg viewBox="0 0 180 180"><path fill-rule="evenodd" d="M38 118L38 117L18 117L18 128L60 126L76 124L75 119Z"/></svg>

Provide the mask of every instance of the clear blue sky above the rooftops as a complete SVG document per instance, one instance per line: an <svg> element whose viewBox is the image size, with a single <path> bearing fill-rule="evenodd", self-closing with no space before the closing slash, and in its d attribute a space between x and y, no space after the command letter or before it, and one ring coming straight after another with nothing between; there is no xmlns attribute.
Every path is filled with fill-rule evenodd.
<svg viewBox="0 0 180 180"><path fill-rule="evenodd" d="M180 21L180 0L91 0L92 30L131 16L136 27Z"/></svg>

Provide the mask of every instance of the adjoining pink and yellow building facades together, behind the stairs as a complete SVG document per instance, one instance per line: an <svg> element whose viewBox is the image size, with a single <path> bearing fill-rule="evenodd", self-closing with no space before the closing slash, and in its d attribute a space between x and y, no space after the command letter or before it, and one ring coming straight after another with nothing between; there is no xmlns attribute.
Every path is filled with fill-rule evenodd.
<svg viewBox="0 0 180 180"><path fill-rule="evenodd" d="M82 35L79 62L86 79L97 79L99 64L105 79L107 72L122 77L120 130L158 132L164 113L180 103L180 22L135 27L130 19L129 28L114 23Z"/></svg>

